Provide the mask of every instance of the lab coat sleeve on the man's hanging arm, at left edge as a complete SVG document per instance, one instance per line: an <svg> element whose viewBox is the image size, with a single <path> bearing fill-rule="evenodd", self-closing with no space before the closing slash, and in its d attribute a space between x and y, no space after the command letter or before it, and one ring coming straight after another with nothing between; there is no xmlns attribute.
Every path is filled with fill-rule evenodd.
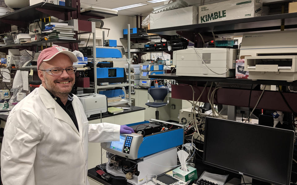
<svg viewBox="0 0 297 185"><path fill-rule="evenodd" d="M41 140L39 121L25 110L16 110L6 122L1 150L4 185L35 185L36 146Z"/></svg>

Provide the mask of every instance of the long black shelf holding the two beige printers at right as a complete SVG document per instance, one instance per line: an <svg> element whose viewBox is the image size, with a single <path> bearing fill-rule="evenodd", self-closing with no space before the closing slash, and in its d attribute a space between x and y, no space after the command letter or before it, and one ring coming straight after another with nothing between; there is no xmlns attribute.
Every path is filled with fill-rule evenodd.
<svg viewBox="0 0 297 185"><path fill-rule="evenodd" d="M237 84L263 84L263 85L285 85L297 86L297 80L287 82L284 80L250 80L250 79L236 79L233 78L218 78L218 77L199 77L199 76L177 76L176 74L162 74L162 75L149 75L149 78L161 78L182 81L204 81L204 82L225 82Z"/></svg>

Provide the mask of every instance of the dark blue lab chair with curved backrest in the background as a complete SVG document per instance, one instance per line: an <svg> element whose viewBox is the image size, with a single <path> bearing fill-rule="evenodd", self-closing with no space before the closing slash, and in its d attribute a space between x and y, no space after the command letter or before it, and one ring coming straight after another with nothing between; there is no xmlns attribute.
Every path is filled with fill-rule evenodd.
<svg viewBox="0 0 297 185"><path fill-rule="evenodd" d="M159 119L158 107L165 106L169 103L169 96L167 96L168 93L169 93L169 88L155 87L155 88L148 89L148 102L145 105L149 107L157 108L156 119ZM149 102L149 95L153 97L154 99L153 102ZM167 96L167 102L163 102L166 96Z"/></svg>

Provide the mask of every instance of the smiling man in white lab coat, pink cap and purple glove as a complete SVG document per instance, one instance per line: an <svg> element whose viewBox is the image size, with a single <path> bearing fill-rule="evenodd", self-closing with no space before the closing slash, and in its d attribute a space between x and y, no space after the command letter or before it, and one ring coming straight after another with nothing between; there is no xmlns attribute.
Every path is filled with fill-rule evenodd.
<svg viewBox="0 0 297 185"><path fill-rule="evenodd" d="M80 100L70 93L76 61L61 47L41 51L42 85L11 110L5 125L3 185L88 185L88 141L117 141L120 133L134 132L125 125L88 124Z"/></svg>

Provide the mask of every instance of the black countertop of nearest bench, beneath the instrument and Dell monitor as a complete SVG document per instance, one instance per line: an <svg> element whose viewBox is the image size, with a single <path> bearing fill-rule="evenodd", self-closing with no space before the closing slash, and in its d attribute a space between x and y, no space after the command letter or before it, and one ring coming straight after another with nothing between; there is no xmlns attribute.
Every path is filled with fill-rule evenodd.
<svg viewBox="0 0 297 185"><path fill-rule="evenodd" d="M241 178L241 176L238 174L206 165L206 164L202 163L201 160L196 160L195 168L197 169L197 177L198 178L204 171L207 171L210 173L215 173L215 174L220 174L220 175L229 175L226 182L228 182L232 178ZM110 176L114 177L113 175L110 175ZM88 177L98 181L99 183L105 184L105 185L131 185L130 183L127 183L126 179L112 179L110 182L107 182L107 181L103 180L99 175L97 175L95 168L91 168L88 170ZM123 178L123 177L115 177L115 178ZM192 183L190 183L190 184L192 184Z"/></svg>

